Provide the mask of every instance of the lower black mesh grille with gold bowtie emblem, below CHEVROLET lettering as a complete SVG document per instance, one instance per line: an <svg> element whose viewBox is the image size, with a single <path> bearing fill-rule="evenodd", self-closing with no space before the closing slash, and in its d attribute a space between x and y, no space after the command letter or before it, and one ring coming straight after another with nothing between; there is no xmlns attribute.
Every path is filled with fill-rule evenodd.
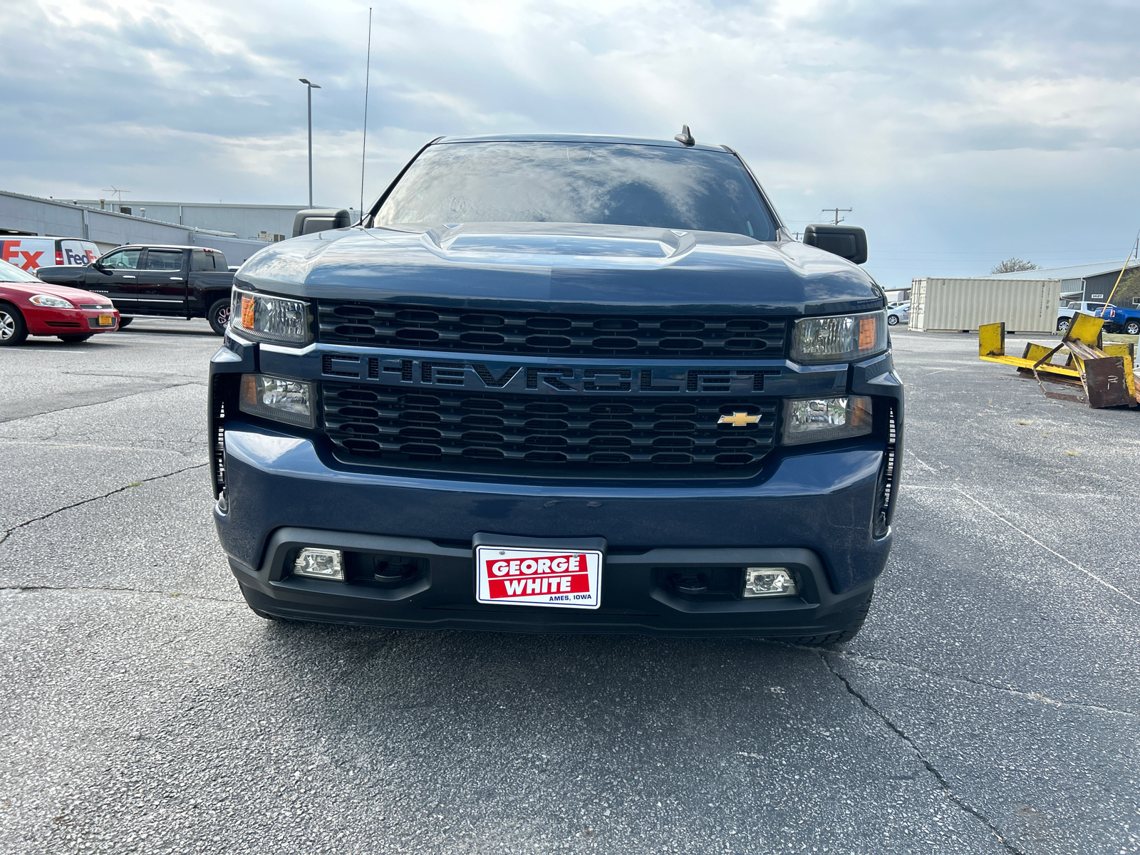
<svg viewBox="0 0 1140 855"><path fill-rule="evenodd" d="M776 399L653 396L424 394L323 383L324 426L365 463L437 461L464 471L539 467L724 472L759 463L774 442ZM718 424L722 416L732 423ZM749 422L756 417L756 422Z"/></svg>

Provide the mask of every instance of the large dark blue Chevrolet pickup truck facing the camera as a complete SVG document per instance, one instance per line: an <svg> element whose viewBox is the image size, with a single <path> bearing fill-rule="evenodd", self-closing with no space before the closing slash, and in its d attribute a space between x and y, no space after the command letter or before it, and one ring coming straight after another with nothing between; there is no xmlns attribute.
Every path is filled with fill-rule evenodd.
<svg viewBox="0 0 1140 855"><path fill-rule="evenodd" d="M441 138L237 272L214 520L249 605L404 628L854 636L903 391L862 229L740 156Z"/></svg>

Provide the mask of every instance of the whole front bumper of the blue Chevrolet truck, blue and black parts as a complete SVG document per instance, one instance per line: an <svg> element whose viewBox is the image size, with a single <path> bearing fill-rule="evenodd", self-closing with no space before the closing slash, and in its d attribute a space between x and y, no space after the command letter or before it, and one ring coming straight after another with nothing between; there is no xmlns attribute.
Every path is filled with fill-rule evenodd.
<svg viewBox="0 0 1140 855"><path fill-rule="evenodd" d="M212 390L219 374L266 370L259 361L255 348L227 342L211 365ZM889 396L901 429L902 390L889 356L869 363L855 366L853 380L845 370L834 382ZM217 402L211 409L217 414ZM211 434L215 481L225 481L214 521L230 568L253 609L284 618L431 629L824 635L866 602L893 539L889 530L876 537L873 526L881 437L777 448L756 478L682 484L368 470L336 461L320 435L233 409L223 431L211 422ZM552 546L604 538L601 608L479 604L472 540L480 534L549 538ZM288 568L300 546L399 556L418 569L397 585L367 576L299 578ZM673 571L750 565L793 568L800 594L702 597L669 584Z"/></svg>

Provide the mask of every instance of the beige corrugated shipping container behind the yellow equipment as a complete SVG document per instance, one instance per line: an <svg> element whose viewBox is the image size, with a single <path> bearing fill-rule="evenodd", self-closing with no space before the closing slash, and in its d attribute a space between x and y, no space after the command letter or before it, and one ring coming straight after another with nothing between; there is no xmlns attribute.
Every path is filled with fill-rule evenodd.
<svg viewBox="0 0 1140 855"><path fill-rule="evenodd" d="M1060 293L1060 279L913 279L911 329L972 333L1004 321L1008 333L1051 333Z"/></svg>

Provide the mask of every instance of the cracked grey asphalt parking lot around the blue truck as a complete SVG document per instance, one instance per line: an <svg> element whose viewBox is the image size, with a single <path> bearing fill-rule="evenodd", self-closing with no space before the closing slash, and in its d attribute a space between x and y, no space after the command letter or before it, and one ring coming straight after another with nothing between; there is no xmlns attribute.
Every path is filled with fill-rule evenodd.
<svg viewBox="0 0 1140 855"><path fill-rule="evenodd" d="M897 540L823 652L267 624L205 324L0 350L0 849L1140 852L1140 413L894 337Z"/></svg>

